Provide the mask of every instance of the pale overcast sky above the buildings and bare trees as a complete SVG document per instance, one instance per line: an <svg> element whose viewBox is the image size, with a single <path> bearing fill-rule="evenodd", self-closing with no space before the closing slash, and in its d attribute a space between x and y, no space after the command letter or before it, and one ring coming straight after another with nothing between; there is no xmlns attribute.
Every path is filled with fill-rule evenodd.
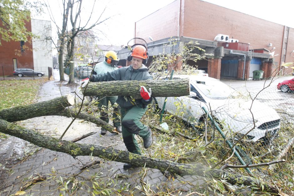
<svg viewBox="0 0 294 196"><path fill-rule="evenodd" d="M55 15L56 21L60 21L61 8L58 3L61 0L48 0L52 6L52 10ZM210 3L220 5L232 10L236 10L242 13L246 13L258 18L265 19L267 21L275 22L281 25L294 28L293 20L293 0L204 0ZM83 1L83 11L90 12L93 5L91 0ZM134 23L141 18L148 16L149 14L159 10L165 5L174 2L174 0L100 0L97 1L95 6L95 16L92 19L99 17L100 13L106 7L102 16L109 17L111 19L105 22L105 24L99 25L94 31L103 32L100 34L101 40L99 44L105 45L126 45L127 42L134 37ZM59 15L59 17L58 17ZM87 18L86 15L82 17ZM50 17L46 14L42 16L34 17L36 19L50 20ZM160 20L160 18L158 19ZM52 30L56 31L54 24L52 24ZM54 32L53 32L54 33Z"/></svg>

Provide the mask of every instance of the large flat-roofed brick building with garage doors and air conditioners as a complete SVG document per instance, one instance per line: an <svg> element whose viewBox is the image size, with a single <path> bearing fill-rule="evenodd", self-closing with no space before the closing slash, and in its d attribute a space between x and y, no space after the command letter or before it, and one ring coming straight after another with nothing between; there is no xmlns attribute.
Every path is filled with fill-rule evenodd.
<svg viewBox="0 0 294 196"><path fill-rule="evenodd" d="M149 36L155 41L150 42ZM135 22L134 37L149 42L151 57L162 51L170 37L184 43L197 41L214 57L190 65L206 69L217 79L250 78L254 70L263 70L267 78L280 71L282 62L293 62L293 28L201 0L175 0L142 18ZM278 54L274 58L269 54L273 51ZM121 57L125 53L121 51ZM281 70L281 74L289 73L291 69Z"/></svg>

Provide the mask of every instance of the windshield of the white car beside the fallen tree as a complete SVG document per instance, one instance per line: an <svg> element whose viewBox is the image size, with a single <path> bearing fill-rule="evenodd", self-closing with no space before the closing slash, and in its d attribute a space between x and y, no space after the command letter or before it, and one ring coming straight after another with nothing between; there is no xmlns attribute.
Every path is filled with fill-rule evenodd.
<svg viewBox="0 0 294 196"><path fill-rule="evenodd" d="M227 99L236 92L220 81L193 81L193 83L209 99Z"/></svg>

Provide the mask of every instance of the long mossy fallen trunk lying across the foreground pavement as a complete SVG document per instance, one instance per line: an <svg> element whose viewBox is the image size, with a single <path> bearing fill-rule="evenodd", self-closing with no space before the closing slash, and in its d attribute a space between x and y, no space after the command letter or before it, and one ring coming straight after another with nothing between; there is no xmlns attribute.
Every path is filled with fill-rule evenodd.
<svg viewBox="0 0 294 196"><path fill-rule="evenodd" d="M181 164L168 160L144 157L138 154L129 153L128 151L122 151L98 145L84 145L65 140L58 140L56 138L42 135L37 131L29 130L1 119L0 131L4 134L21 138L40 147L51 149L57 152L63 152L73 157L88 156L89 154L92 154L92 156L112 161L129 163L135 166L143 167L146 165L146 167L149 168L159 169L162 172L169 171L181 176L198 175L214 179L221 179L222 176L226 176L226 179L224 180L231 184L243 184L245 186L252 186L252 184L256 184L256 186L261 187L260 181L242 174L235 174L220 169L210 170L202 164ZM278 190L270 184L264 184L264 190L275 194L279 193Z"/></svg>

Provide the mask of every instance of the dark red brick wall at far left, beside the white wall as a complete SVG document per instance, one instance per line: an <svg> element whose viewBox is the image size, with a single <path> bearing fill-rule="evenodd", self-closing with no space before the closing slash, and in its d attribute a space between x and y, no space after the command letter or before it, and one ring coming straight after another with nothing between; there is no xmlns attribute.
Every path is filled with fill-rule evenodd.
<svg viewBox="0 0 294 196"><path fill-rule="evenodd" d="M31 21L26 22L26 27L28 31L31 31ZM24 52L21 52L21 56L16 55L15 50L21 50L20 41L19 42L5 42L1 40L0 46L0 75L13 75L13 59L17 59L18 68L31 68L33 69L33 46L32 42L25 42L24 45L28 47Z"/></svg>

